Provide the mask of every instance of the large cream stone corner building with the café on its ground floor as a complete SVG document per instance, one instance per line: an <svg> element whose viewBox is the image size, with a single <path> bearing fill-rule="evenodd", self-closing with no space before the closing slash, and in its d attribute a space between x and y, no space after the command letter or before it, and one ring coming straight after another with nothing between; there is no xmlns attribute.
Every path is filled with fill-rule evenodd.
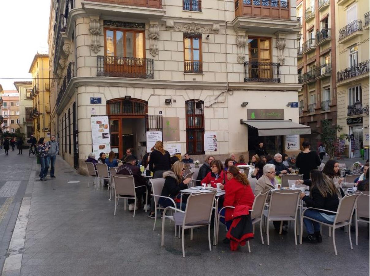
<svg viewBox="0 0 370 276"><path fill-rule="evenodd" d="M296 154L290 139L310 134L299 124L300 29L296 1L52 1L51 130L60 154L86 171L97 115L109 117L117 157L127 147L143 156L148 131L195 160L248 159L259 142L271 154Z"/></svg>

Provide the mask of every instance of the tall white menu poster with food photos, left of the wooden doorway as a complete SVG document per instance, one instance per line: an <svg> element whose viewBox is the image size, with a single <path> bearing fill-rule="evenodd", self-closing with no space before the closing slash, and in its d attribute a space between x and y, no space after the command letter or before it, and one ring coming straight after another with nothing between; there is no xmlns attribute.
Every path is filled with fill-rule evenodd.
<svg viewBox="0 0 370 276"><path fill-rule="evenodd" d="M92 152L98 157L101 152L111 151L108 116L91 117Z"/></svg>

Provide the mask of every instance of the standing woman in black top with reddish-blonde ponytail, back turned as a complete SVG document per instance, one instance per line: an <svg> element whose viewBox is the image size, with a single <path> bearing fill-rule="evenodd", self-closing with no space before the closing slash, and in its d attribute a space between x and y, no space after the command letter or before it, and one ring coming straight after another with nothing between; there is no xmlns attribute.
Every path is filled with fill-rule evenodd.
<svg viewBox="0 0 370 276"><path fill-rule="evenodd" d="M150 154L149 170L154 173L153 178L161 178L162 174L170 168L171 156L163 148L162 141L157 141L154 145L153 152Z"/></svg>

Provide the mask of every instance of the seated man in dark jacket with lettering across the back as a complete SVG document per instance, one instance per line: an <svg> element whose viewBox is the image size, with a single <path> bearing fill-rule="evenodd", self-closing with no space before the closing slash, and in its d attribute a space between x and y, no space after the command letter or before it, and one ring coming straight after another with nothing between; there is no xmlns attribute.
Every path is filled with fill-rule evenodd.
<svg viewBox="0 0 370 276"><path fill-rule="evenodd" d="M141 170L138 166L135 166L136 164L136 157L133 155L129 155L126 157L125 163L120 166L117 169L117 174L124 174L124 175L133 175L135 180L135 187L138 186L147 186L148 191L149 187L147 185L147 182L145 181L145 178L141 175ZM142 196L145 196L146 189L145 187L139 187L136 189L136 196L138 197L138 205L141 205L141 198ZM145 197L144 197L145 198ZM150 200L150 199L148 199ZM138 206L134 206L135 200L134 199L128 199L128 210L133 211L134 208L138 209ZM144 209L147 208L149 210L149 206L144 206ZM135 209L135 210L136 210Z"/></svg>

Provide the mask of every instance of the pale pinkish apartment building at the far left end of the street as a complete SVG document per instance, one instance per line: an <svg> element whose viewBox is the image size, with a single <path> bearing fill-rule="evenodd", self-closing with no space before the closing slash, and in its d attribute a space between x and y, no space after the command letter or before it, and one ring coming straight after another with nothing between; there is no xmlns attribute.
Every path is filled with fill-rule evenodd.
<svg viewBox="0 0 370 276"><path fill-rule="evenodd" d="M3 132L14 133L20 127L19 93L17 90L4 90L1 98L1 116L4 118L1 127Z"/></svg>

